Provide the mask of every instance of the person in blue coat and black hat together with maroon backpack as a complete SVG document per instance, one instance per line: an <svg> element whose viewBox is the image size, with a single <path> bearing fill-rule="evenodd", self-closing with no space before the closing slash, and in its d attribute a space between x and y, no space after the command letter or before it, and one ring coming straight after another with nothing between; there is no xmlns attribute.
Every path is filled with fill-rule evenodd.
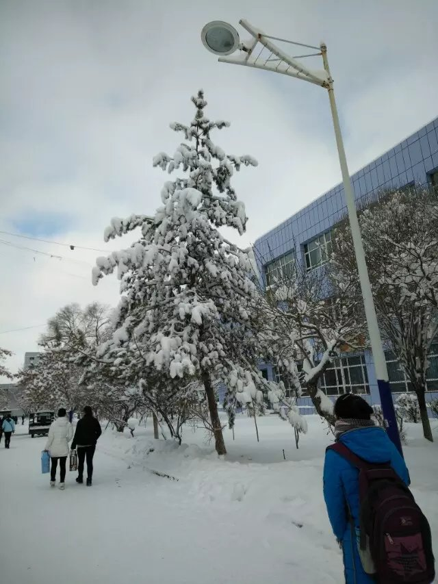
<svg viewBox="0 0 438 584"><path fill-rule="evenodd" d="M342 548L346 584L372 584L376 579L430 583L434 576L427 520L407 488L404 459L385 430L375 426L373 413L360 396L340 396L335 403L336 444L326 450L324 499ZM387 469L379 471L386 473L385 480L376 480L379 468ZM404 531L400 525L406 526ZM418 574L416 561L422 565ZM411 579L412 569L423 577Z"/></svg>

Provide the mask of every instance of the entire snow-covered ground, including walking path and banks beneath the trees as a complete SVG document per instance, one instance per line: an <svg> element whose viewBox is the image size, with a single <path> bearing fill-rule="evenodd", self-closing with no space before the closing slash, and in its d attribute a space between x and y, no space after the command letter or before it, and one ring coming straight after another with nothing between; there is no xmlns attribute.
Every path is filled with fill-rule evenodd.
<svg viewBox="0 0 438 584"><path fill-rule="evenodd" d="M10 450L0 445L1 583L339 584L342 558L322 498L331 435L318 416L307 420L296 450L292 428L276 416L258 418L259 443L254 421L239 416L224 460L201 429L188 428L180 448L153 440L150 422L133 438L108 429L92 488L68 473L64 492L40 472L44 438L19 426ZM437 550L433 427L428 444L420 424L408 424L404 452Z"/></svg>

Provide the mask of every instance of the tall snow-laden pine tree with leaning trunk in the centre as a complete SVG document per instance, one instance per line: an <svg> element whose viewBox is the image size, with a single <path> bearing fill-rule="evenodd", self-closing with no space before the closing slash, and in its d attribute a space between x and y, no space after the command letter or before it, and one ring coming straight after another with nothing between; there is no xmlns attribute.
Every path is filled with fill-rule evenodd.
<svg viewBox="0 0 438 584"><path fill-rule="evenodd" d="M214 129L227 127L205 116L203 91L192 97L196 108L190 125L173 123L185 142L171 157L159 153L153 166L183 170L167 181L162 206L155 215L115 218L105 241L141 229L140 240L128 249L99 257L93 283L117 270L122 280L116 331L99 350L99 359L113 361L120 376L146 383L151 368L170 379L202 381L209 405L218 454L226 453L214 392L221 380L235 398L246 403L257 397L261 377L257 370L257 290L250 279L248 250L227 241L218 231L245 230L244 203L231 186L234 170L256 166L250 156L227 155L211 140ZM124 361L127 353L137 359Z"/></svg>

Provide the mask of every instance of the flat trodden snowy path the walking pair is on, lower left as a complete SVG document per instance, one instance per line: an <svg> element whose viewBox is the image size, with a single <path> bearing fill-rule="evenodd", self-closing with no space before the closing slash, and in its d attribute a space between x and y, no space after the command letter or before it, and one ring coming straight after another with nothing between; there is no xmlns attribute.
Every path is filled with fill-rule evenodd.
<svg viewBox="0 0 438 584"><path fill-rule="evenodd" d="M263 528L257 509L242 522L238 508L200 501L184 481L127 470L102 450L91 488L68 473L66 490L52 490L40 474L43 446L17 434L10 450L1 444L2 584L280 584L291 570L306 573L281 561L271 533L279 525Z"/></svg>

